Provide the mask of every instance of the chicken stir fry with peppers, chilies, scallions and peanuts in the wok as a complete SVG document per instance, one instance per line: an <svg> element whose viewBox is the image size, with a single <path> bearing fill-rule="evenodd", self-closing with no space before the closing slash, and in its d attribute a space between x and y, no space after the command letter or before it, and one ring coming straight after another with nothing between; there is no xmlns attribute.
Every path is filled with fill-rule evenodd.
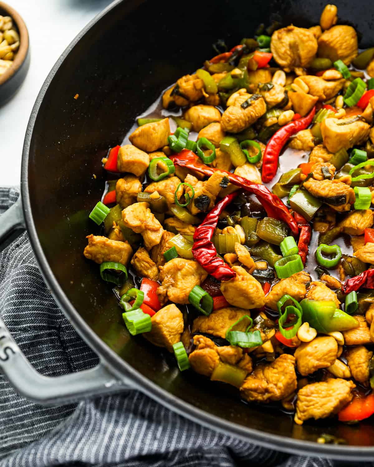
<svg viewBox="0 0 374 467"><path fill-rule="evenodd" d="M214 44L103 159L84 250L135 339L299 425L374 413L374 47L337 15Z"/></svg>

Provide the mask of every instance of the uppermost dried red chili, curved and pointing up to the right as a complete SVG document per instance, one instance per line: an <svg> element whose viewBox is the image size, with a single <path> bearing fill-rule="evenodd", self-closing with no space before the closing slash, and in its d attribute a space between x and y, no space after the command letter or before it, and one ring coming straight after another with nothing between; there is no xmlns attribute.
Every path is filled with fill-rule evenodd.
<svg viewBox="0 0 374 467"><path fill-rule="evenodd" d="M293 134L309 127L315 113L316 107L314 106L306 117L284 125L270 138L262 159L262 181L264 183L273 180L273 177L277 173L279 154L283 146Z"/></svg>

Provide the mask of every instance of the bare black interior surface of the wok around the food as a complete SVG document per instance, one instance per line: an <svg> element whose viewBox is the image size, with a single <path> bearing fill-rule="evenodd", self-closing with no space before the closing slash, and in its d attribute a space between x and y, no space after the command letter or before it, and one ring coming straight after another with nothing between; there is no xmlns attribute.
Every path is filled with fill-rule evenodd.
<svg viewBox="0 0 374 467"><path fill-rule="evenodd" d="M352 24L362 34L360 47L372 45L374 5L335 3L339 22ZM163 89L214 55L211 44L218 38L233 46L242 37L252 37L259 23L272 20L309 27L319 22L324 5L255 0L238 7L228 0L191 0L187 14L183 4L170 0L162 2L162 8L152 1L117 4L73 47L46 90L30 142L29 196L44 255L66 296L94 333L146 378L209 414L245 427L310 441L329 433L350 445L373 446L370 423L322 420L298 426L291 415L272 406L241 402L223 383L213 386L192 372L181 374L171 354L129 335L110 286L82 254L90 233L88 214L101 198L105 180L101 157L121 144L135 117ZM316 450L323 447L316 445Z"/></svg>

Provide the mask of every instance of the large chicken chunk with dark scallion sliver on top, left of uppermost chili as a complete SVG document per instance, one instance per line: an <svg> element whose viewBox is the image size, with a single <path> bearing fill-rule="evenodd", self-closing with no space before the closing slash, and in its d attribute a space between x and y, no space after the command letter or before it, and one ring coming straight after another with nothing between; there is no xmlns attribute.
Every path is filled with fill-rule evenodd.
<svg viewBox="0 0 374 467"><path fill-rule="evenodd" d="M258 96L258 99L255 97ZM252 97L248 106L241 105ZM227 100L227 108L223 112L221 125L224 131L239 133L249 127L266 112L266 103L260 94L248 94L245 89L234 92Z"/></svg>

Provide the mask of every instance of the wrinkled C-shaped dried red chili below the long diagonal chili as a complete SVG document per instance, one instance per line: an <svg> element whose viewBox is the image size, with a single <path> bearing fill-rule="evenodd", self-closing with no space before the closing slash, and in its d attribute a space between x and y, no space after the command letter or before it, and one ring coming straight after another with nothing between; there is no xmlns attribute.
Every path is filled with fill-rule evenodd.
<svg viewBox="0 0 374 467"><path fill-rule="evenodd" d="M222 198L206 215L205 219L201 222L200 226L196 228L194 233L194 245L192 247L194 259L208 274L220 281L228 281L235 277L236 273L222 258L217 256L217 250L213 245L212 236L217 226L219 215L236 196L237 192L234 192Z"/></svg>

